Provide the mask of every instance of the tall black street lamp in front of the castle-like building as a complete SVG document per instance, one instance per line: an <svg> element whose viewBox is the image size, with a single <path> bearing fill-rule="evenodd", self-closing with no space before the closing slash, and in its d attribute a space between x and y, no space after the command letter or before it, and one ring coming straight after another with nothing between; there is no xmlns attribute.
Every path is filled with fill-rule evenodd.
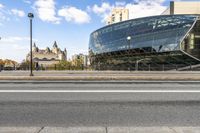
<svg viewBox="0 0 200 133"><path fill-rule="evenodd" d="M34 18L33 13L29 13L28 17L30 19L30 76L34 76L33 75L33 53L32 53L32 20Z"/></svg>

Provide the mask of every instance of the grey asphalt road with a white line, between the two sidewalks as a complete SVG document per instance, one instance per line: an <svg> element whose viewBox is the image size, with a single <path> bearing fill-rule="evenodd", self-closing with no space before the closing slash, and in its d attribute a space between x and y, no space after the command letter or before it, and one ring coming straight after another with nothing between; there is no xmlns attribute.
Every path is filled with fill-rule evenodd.
<svg viewBox="0 0 200 133"><path fill-rule="evenodd" d="M1 82L0 125L198 126L199 82Z"/></svg>

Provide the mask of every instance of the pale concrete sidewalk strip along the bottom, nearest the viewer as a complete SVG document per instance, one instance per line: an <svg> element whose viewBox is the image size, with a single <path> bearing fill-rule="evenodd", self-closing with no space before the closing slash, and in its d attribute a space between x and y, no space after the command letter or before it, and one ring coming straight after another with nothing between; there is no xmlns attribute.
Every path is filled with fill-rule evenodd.
<svg viewBox="0 0 200 133"><path fill-rule="evenodd" d="M200 127L0 127L1 133L199 133Z"/></svg>

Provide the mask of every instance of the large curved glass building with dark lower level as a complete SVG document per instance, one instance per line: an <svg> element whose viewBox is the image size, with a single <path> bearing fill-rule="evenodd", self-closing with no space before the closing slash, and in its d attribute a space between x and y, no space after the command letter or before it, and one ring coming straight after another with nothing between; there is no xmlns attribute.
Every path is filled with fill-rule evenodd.
<svg viewBox="0 0 200 133"><path fill-rule="evenodd" d="M200 64L200 17L163 15L132 19L91 33L96 70L181 70Z"/></svg>

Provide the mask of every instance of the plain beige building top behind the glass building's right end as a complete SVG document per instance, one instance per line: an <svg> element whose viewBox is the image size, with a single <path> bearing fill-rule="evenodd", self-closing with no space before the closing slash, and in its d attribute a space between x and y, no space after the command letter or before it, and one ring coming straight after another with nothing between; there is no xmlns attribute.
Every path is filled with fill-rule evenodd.
<svg viewBox="0 0 200 133"><path fill-rule="evenodd" d="M171 1L170 15L174 14L200 14L200 2L195 1Z"/></svg>

